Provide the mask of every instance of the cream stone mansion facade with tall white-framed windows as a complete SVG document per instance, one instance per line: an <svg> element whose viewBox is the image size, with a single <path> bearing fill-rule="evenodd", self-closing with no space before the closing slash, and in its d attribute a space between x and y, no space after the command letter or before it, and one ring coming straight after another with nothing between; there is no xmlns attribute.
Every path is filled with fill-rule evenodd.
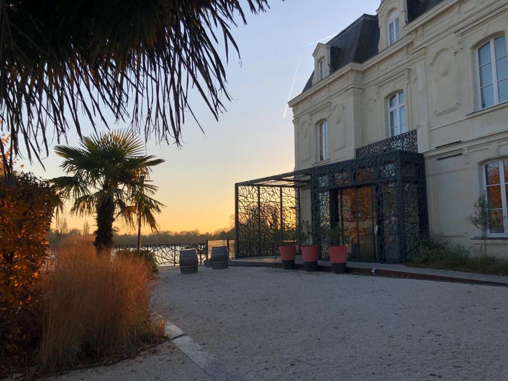
<svg viewBox="0 0 508 381"><path fill-rule="evenodd" d="M314 73L289 103L295 171L352 160L359 147L416 130L430 230L479 249L481 232L466 216L488 190L496 204L488 250L508 258L508 0L384 0L342 34L353 28L361 29L353 58L342 65L351 47L338 40L317 45ZM378 41L362 58L371 49L363 33ZM311 219L310 194L300 190L302 219Z"/></svg>

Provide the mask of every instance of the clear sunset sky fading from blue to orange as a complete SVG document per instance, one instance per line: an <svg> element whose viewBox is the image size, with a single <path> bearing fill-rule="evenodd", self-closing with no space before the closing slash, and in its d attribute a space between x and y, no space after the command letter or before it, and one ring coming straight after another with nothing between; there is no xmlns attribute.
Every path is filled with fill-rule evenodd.
<svg viewBox="0 0 508 381"><path fill-rule="evenodd" d="M282 116L300 56L291 98L301 92L312 72L316 43L328 41L363 13L375 14L379 3L270 0L267 13L248 15L246 26L233 29L241 65L237 56L230 56L226 70L234 101L225 103L227 113L216 122L195 94L191 102L205 133L189 117L182 127L181 148L154 140L147 143L149 154L166 160L151 176L160 187L156 198L166 205L158 219L162 230L206 232L228 227L235 182L294 169L293 114L288 110ZM114 128L125 127L111 120ZM85 130L85 135L91 132ZM68 140L78 143L75 131ZM23 159L20 163L43 178L62 175L52 149L44 160L45 171L38 163L30 166ZM93 219L88 221L94 230ZM68 218L69 228L82 229L83 222Z"/></svg>

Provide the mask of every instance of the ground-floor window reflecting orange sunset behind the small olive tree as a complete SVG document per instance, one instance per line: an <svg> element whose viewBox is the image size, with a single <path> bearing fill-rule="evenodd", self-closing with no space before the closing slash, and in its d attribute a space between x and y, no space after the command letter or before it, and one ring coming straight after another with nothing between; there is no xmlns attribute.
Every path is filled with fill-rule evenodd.
<svg viewBox="0 0 508 381"><path fill-rule="evenodd" d="M507 234L508 160L496 160L485 166L485 190L489 204L490 234Z"/></svg>

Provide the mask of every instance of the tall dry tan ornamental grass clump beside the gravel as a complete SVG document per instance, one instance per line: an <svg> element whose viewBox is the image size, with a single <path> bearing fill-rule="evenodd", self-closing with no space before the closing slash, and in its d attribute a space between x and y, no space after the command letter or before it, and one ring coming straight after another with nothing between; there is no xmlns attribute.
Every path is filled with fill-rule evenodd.
<svg viewBox="0 0 508 381"><path fill-rule="evenodd" d="M150 269L138 258L98 256L91 241L60 245L38 305L40 367L53 371L84 358L128 356L154 341L150 278Z"/></svg>

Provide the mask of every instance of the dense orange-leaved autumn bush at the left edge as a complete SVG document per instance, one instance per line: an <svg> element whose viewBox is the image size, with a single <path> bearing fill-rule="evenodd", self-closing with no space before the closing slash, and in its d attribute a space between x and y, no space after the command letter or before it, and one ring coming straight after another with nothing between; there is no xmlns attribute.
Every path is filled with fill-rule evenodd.
<svg viewBox="0 0 508 381"><path fill-rule="evenodd" d="M18 173L0 177L0 358L29 350L37 299L35 286L46 258L53 188Z"/></svg>

